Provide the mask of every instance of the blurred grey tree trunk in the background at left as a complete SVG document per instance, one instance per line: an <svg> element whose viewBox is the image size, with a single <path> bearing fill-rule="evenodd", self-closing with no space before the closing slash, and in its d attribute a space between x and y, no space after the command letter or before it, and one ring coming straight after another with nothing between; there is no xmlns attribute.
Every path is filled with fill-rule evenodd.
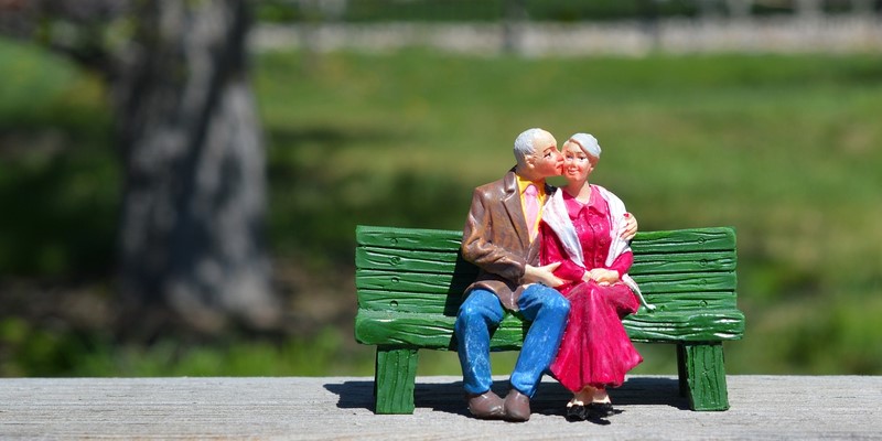
<svg viewBox="0 0 882 441"><path fill-rule="evenodd" d="M246 1L138 8L136 51L114 84L126 175L126 309L148 327L168 319L202 331L230 319L273 326L279 305L263 244L265 152L247 77Z"/></svg>

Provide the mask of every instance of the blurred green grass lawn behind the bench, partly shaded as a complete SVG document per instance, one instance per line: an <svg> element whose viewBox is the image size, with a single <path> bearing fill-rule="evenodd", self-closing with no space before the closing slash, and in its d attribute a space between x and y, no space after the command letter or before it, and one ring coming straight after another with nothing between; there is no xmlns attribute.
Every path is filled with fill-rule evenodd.
<svg viewBox="0 0 882 441"><path fill-rule="evenodd" d="M405 51L267 53L254 66L277 273L305 311L303 335L117 347L0 312L0 375L367 375L372 352L346 327L354 226L460 229L472 189L512 165L512 141L529 127L559 141L595 135L592 182L644 230L736 228L747 331L727 344L729 373L882 374L878 56ZM2 42L0 74L0 288L111 297L120 175L103 86ZM26 292L13 311L42 295ZM673 347L641 351L636 373L674 372ZM451 354L426 357L420 374L459 372ZM510 363L501 355L495 369Z"/></svg>

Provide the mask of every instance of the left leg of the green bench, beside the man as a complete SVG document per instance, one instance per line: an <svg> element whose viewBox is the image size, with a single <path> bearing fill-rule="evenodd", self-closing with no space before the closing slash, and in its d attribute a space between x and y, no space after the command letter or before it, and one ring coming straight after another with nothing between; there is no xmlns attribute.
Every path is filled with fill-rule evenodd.
<svg viewBox="0 0 882 441"><path fill-rule="evenodd" d="M417 349L377 347L375 413L413 413Z"/></svg>

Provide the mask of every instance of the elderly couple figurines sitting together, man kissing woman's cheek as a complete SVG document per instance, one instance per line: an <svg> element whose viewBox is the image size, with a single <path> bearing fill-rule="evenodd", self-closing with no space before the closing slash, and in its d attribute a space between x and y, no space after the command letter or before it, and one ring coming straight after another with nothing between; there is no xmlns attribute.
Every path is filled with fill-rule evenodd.
<svg viewBox="0 0 882 441"><path fill-rule="evenodd" d="M542 129L515 139L516 165L475 189L462 255L480 268L456 315L469 410L477 418L527 421L546 373L573 392L567 418L604 418L606 389L642 362L622 318L643 302L627 276L637 223L619 197L588 183L600 158L594 137L577 133L558 151ZM558 190L546 179L563 175ZM505 398L491 390L490 338L505 311L533 324Z"/></svg>

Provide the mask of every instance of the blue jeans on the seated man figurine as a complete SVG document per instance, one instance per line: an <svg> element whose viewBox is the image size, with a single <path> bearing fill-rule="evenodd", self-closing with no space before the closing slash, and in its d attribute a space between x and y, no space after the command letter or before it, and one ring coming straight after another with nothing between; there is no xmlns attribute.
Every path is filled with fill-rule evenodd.
<svg viewBox="0 0 882 441"><path fill-rule="evenodd" d="M570 302L556 289L534 283L524 290L518 308L533 321L520 349L512 387L533 397L548 366L553 362L567 325ZM483 394L493 379L490 367L490 332L503 320L499 299L491 291L475 289L460 305L454 326L465 391Z"/></svg>

